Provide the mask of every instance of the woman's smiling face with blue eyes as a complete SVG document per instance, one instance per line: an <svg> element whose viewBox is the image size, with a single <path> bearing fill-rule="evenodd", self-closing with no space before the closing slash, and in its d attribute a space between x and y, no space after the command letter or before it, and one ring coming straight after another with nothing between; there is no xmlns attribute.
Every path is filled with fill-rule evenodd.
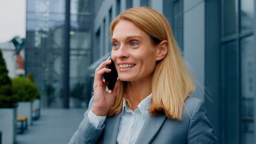
<svg viewBox="0 0 256 144"><path fill-rule="evenodd" d="M146 80L153 76L157 45L150 36L129 20L120 20L111 38L112 59L122 81Z"/></svg>

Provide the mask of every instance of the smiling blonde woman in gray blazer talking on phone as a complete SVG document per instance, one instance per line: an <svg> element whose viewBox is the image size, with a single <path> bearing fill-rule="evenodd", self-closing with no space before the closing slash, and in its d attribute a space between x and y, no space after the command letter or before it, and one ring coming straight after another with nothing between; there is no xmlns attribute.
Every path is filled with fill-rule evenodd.
<svg viewBox="0 0 256 144"><path fill-rule="evenodd" d="M110 26L118 72L112 91L95 71L94 97L70 143L217 143L203 101L162 14L148 7L121 13Z"/></svg>

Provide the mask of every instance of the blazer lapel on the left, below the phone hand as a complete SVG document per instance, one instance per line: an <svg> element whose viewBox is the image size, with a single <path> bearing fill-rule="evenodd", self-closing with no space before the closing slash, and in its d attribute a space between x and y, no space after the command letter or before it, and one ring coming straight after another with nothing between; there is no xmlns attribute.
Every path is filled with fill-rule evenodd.
<svg viewBox="0 0 256 144"><path fill-rule="evenodd" d="M103 143L117 143L117 134L120 120L121 113L106 118Z"/></svg>

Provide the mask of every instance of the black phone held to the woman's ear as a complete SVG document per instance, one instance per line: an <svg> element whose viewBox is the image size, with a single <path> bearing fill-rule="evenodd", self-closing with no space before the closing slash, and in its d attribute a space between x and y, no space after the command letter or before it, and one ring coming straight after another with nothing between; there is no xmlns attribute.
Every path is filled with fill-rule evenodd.
<svg viewBox="0 0 256 144"><path fill-rule="evenodd" d="M106 65L106 68L111 69L111 72L104 73L103 77L106 81L106 85L108 86L108 89L112 90L112 89L114 89L115 82L117 82L117 77L118 77L117 70L115 69L115 64L112 59L111 59L111 64Z"/></svg>

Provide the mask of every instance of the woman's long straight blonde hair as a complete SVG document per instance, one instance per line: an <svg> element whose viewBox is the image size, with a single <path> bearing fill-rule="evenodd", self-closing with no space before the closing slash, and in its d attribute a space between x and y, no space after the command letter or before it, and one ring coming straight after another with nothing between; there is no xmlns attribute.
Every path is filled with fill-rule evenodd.
<svg viewBox="0 0 256 144"><path fill-rule="evenodd" d="M193 82L186 70L185 62L180 55L180 50L175 43L169 23L165 17L148 7L130 8L119 14L110 25L111 37L115 26L120 20L130 20L142 31L147 32L155 43L168 41L168 53L161 61L157 61L151 86L152 98L149 113L160 115L165 113L168 118L181 121L184 101L187 95L195 89ZM192 74L194 78L194 75ZM108 115L120 113L123 98L129 105L129 97L125 94L126 82L118 80L117 98Z"/></svg>

